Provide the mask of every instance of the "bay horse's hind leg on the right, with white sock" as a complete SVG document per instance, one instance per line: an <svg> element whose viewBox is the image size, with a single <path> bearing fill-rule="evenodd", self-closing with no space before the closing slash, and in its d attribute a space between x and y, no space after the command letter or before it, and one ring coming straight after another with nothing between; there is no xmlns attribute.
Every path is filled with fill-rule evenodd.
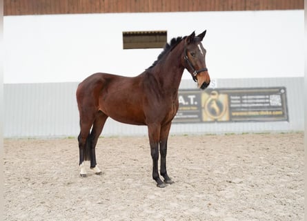
<svg viewBox="0 0 307 221"><path fill-rule="evenodd" d="M106 123L108 116L99 111L94 124L92 125L92 131L90 133L90 169L94 171L95 174L101 175L101 170L99 169L96 161L96 145L103 130L103 126Z"/></svg>

